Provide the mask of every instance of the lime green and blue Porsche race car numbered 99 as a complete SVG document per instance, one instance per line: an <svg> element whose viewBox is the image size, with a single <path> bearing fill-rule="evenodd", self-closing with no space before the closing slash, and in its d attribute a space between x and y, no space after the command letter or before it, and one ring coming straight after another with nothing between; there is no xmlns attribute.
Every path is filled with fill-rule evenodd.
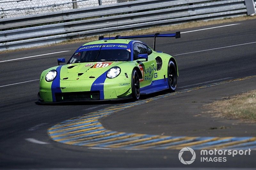
<svg viewBox="0 0 256 170"><path fill-rule="evenodd" d="M132 40L154 37L153 48ZM177 86L178 66L168 54L157 52L156 37L180 38L180 32L138 36L99 37L83 44L67 64L44 70L39 102L138 100L140 95Z"/></svg>

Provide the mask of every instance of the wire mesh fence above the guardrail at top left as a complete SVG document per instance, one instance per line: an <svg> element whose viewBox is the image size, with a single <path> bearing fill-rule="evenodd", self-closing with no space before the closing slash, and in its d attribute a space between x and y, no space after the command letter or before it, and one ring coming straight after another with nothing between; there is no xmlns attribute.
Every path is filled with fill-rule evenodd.
<svg viewBox="0 0 256 170"><path fill-rule="evenodd" d="M0 0L0 18L20 17L133 0Z"/></svg>

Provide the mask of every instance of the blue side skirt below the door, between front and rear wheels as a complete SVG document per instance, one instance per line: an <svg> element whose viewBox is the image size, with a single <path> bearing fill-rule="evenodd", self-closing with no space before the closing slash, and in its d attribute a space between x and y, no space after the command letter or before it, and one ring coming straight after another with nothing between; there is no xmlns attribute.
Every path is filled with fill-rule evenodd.
<svg viewBox="0 0 256 170"><path fill-rule="evenodd" d="M159 92L161 90L169 89L168 78L153 80L148 86L140 88L140 94L149 94L154 92Z"/></svg>

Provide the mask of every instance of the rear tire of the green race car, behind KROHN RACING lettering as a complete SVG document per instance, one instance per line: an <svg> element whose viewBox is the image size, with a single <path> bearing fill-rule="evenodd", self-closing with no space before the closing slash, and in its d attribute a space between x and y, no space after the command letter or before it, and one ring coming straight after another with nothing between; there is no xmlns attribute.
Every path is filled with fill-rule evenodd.
<svg viewBox="0 0 256 170"><path fill-rule="evenodd" d="M174 92L177 86L177 69L173 61L169 61L168 63L167 76L169 89L171 92Z"/></svg>

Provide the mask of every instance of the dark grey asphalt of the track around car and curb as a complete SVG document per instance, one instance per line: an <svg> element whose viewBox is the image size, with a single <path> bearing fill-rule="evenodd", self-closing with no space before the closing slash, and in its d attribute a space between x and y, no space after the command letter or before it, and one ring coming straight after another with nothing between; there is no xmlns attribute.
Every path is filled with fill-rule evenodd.
<svg viewBox="0 0 256 170"><path fill-rule="evenodd" d="M181 33L180 39L157 39L156 50L173 55L179 66L177 91L256 75L256 22L196 32ZM191 31L214 26L204 26ZM153 44L153 40L142 41ZM251 44L245 44L251 43ZM0 62L15 58L42 55L0 63L0 167L1 168L104 168L104 167L188 167L180 163L178 150L102 150L53 142L47 129L67 119L84 115L118 102L81 102L63 105L36 105L39 76L42 70L57 64L57 58L68 59L79 44L51 46L0 54ZM228 48L227 46L239 45ZM207 50L220 48L214 50ZM189 53L194 51L201 51ZM179 55L183 53L189 53ZM175 56L177 55L177 56ZM25 81L31 82L10 85ZM4 86L8 85L8 86ZM255 89L255 78L216 85L148 103L110 115L101 120L104 127L123 132L165 134L173 136L256 136L255 124L212 118L203 114L204 104L222 97ZM161 92L163 94L165 92ZM146 97L157 96L153 94ZM125 103L127 101L123 101ZM201 114L202 116L195 116ZM225 126L227 128L221 129ZM217 129L212 129L216 127ZM33 138L47 144L36 144ZM202 163L196 160L189 167L253 168L256 152L250 156L228 158L227 162Z"/></svg>

